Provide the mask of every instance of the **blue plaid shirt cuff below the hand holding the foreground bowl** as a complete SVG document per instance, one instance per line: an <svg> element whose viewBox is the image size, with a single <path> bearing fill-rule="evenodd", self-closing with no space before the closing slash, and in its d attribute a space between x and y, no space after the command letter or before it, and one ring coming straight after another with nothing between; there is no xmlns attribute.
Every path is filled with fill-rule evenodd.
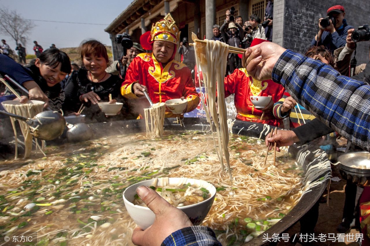
<svg viewBox="0 0 370 246"><path fill-rule="evenodd" d="M169 235L162 246L221 246L217 241L215 233L206 226L190 226L176 230Z"/></svg>

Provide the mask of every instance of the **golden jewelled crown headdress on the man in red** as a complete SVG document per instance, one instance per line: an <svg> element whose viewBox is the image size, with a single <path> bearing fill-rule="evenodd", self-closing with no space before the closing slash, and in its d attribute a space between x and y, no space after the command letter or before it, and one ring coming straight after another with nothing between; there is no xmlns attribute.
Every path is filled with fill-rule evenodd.
<svg viewBox="0 0 370 246"><path fill-rule="evenodd" d="M177 44L180 38L180 31L175 24L174 18L168 13L164 19L152 25L150 35L151 41L164 40Z"/></svg>

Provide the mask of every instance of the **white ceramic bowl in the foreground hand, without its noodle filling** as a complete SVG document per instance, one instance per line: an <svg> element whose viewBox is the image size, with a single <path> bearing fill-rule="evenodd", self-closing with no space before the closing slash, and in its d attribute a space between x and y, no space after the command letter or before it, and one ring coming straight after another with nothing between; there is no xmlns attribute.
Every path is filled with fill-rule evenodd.
<svg viewBox="0 0 370 246"><path fill-rule="evenodd" d="M147 207L134 205L134 196L136 195L136 188L140 185L151 186L153 180L145 180L131 185L123 192L123 201L125 203L128 214L135 221L135 223L143 230L147 229L154 222L155 215ZM196 184L200 187L206 188L211 194L211 197L199 202L197 204L192 204L188 206L178 207L182 212L188 215L190 221L193 225L200 225L203 219L206 217L209 209L213 204L216 196L216 188L204 180L196 180L193 178L169 178L169 185L174 184ZM170 219L170 218L169 218Z"/></svg>

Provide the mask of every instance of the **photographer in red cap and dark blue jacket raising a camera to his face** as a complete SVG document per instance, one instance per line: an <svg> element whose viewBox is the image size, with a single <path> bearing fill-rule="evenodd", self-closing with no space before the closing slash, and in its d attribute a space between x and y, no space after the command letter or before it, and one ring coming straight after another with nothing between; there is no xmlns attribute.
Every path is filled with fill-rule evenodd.
<svg viewBox="0 0 370 246"><path fill-rule="evenodd" d="M319 19L319 32L313 38L311 45L324 45L333 53L335 49L346 45L347 31L353 27L344 19L346 13L343 6L332 6L326 13L326 18Z"/></svg>

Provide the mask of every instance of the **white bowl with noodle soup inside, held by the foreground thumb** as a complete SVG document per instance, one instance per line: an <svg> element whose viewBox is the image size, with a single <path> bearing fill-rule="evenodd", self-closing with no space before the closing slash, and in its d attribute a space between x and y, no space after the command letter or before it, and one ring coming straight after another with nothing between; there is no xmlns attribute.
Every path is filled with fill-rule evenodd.
<svg viewBox="0 0 370 246"><path fill-rule="evenodd" d="M155 189L172 206L184 212L193 225L202 223L216 195L212 184L193 178L155 178L131 185L123 192L123 200L127 212L143 230L152 225L155 215L136 194L136 188L141 185Z"/></svg>

